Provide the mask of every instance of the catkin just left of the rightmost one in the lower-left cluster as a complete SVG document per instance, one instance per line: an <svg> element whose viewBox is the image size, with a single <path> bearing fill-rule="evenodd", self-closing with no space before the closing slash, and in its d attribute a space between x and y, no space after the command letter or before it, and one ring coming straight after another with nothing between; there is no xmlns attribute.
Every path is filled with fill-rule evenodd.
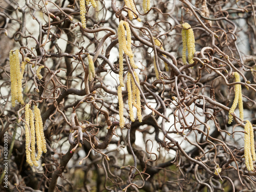
<svg viewBox="0 0 256 192"><path fill-rule="evenodd" d="M36 145L37 145L37 157L36 160L38 161L42 155L42 138L40 134L40 124L39 124L39 116L40 110L35 106L34 108L35 114L35 133L36 133Z"/></svg>

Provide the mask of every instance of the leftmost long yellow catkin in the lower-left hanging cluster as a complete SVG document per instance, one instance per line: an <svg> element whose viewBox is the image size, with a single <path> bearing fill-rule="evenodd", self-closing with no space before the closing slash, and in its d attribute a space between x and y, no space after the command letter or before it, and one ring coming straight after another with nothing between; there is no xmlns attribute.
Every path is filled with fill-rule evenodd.
<svg viewBox="0 0 256 192"><path fill-rule="evenodd" d="M25 106L25 140L26 140L26 161L30 166L33 166L31 161L31 149L30 149L30 116L29 116L29 104Z"/></svg>

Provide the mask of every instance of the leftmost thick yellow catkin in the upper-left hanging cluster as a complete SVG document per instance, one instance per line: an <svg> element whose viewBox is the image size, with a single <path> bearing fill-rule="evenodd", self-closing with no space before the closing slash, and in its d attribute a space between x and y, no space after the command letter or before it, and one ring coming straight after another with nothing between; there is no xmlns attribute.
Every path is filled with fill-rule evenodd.
<svg viewBox="0 0 256 192"><path fill-rule="evenodd" d="M11 76L11 95L12 95L12 106L15 106L15 100L18 99L18 83L17 83L17 66L19 66L18 59L19 51L10 51L10 76Z"/></svg>

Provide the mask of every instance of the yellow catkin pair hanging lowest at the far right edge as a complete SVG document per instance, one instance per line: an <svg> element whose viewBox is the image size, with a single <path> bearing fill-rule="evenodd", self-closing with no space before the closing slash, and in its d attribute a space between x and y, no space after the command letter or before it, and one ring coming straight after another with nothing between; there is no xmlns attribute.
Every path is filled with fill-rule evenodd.
<svg viewBox="0 0 256 192"><path fill-rule="evenodd" d="M244 131L247 133L244 134L245 165L247 167L247 170L252 171L254 169L252 159L255 159L254 134L252 124L248 120L246 120Z"/></svg>

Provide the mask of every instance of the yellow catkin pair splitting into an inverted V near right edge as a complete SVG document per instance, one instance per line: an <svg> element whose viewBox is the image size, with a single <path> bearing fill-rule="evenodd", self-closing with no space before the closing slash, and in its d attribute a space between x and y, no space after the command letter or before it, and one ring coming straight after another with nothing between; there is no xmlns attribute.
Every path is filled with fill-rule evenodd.
<svg viewBox="0 0 256 192"><path fill-rule="evenodd" d="M238 72L234 72L234 78L236 82L240 82L240 75ZM244 115L243 115L243 100L242 100L241 84L234 85L234 100L228 113L228 124L230 124L233 120L233 116L231 114L234 113L234 110L237 108L238 102L240 103L239 104L240 118L243 120Z"/></svg>

